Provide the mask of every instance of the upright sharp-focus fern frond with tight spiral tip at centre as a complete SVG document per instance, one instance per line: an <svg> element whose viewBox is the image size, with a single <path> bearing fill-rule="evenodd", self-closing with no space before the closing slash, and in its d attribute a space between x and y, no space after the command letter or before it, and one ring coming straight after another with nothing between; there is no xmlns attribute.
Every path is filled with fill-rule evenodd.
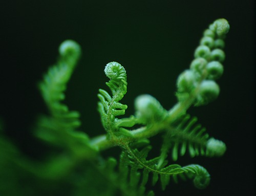
<svg viewBox="0 0 256 196"><path fill-rule="evenodd" d="M132 127L136 119L134 117L115 118L116 116L124 115L127 109L127 105L119 102L127 92L126 71L118 62L110 62L106 64L104 72L110 78L106 85L109 86L112 96L105 90L99 90L98 98L100 102L98 102L98 111L102 125L108 133L120 130L123 134L129 135L126 129L120 127Z"/></svg>

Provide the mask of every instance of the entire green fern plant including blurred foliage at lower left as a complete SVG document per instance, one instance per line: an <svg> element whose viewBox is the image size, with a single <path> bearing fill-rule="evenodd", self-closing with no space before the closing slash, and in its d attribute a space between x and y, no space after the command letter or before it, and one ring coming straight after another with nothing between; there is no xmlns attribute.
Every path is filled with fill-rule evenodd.
<svg viewBox="0 0 256 196"><path fill-rule="evenodd" d="M0 161L1 166L9 170L15 167L11 174L17 175L20 182L31 178L30 182L38 190L45 190L47 184L50 188L41 192L42 195L65 192L65 188L72 187L65 194L152 196L154 191L146 190L150 176L152 185L160 182L163 190L170 179L175 182L193 179L197 188L207 187L210 175L204 167L168 164L168 156L177 161L187 151L190 157L219 157L225 153L225 144L209 137L206 129L197 123L196 117L191 118L187 110L192 105L206 105L218 97L220 88L216 80L223 74L224 38L228 30L228 22L218 19L204 31L190 68L177 79L178 102L170 110L146 94L135 99L134 115L121 118L127 109L127 105L120 102L127 92L126 71L118 62L108 63L104 72L110 79L106 85L111 93L103 89L98 93L98 112L106 133L94 138L79 130L79 112L70 111L63 103L67 82L81 54L78 43L64 41L59 47L57 63L38 84L49 114L40 115L34 127L34 134L55 150L38 163L23 156L7 139L0 138L1 149L9 150L9 153L0 151L0 160L4 160ZM1 131L2 124L0 122ZM160 155L148 159L152 149L150 139L156 135L163 137ZM101 156L103 150L115 146L121 149L119 160ZM7 174L3 169L0 173L0 176ZM6 195L9 189L0 186L0 193ZM15 195L21 191L11 192ZM26 189L24 195L35 192Z"/></svg>

